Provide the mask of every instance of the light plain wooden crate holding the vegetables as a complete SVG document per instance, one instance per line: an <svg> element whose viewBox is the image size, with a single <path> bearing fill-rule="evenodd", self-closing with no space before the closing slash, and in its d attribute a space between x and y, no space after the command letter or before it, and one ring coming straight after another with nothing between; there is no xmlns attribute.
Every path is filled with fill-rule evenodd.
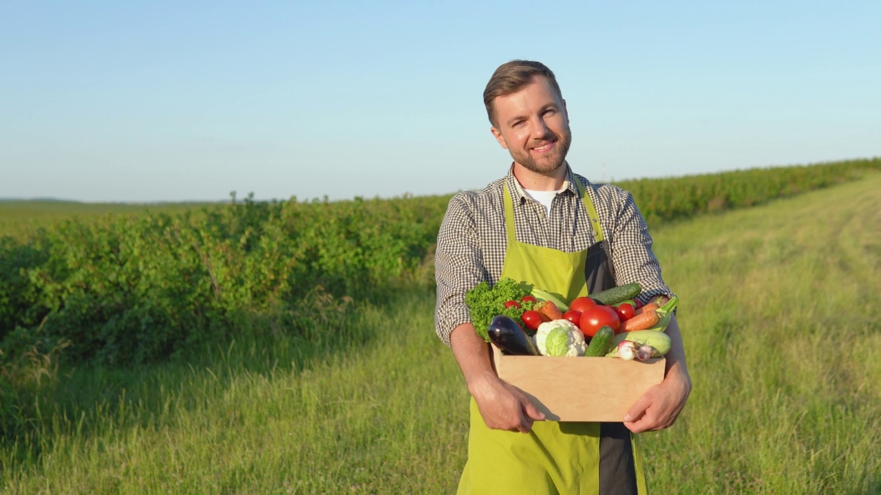
<svg viewBox="0 0 881 495"><path fill-rule="evenodd" d="M492 345L499 378L520 388L552 421L622 421L649 387L663 381L666 359L505 356Z"/></svg>

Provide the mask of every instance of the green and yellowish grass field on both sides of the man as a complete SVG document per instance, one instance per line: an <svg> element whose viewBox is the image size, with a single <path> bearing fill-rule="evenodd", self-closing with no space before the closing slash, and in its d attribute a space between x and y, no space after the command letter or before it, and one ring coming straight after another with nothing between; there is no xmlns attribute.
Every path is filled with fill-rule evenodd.
<svg viewBox="0 0 881 495"><path fill-rule="evenodd" d="M638 438L653 493L881 493L879 189L868 174L655 233L694 391ZM432 311L426 288L314 344L73 370L37 445L0 452L0 492L454 492L468 394Z"/></svg>

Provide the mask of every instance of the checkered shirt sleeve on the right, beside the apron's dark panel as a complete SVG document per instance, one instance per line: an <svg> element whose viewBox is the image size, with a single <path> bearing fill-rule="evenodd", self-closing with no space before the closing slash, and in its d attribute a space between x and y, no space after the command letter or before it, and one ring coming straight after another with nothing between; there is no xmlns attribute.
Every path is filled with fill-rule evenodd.
<svg viewBox="0 0 881 495"><path fill-rule="evenodd" d="M610 186L605 186L610 187ZM673 296L661 277L661 263L652 251L648 225L633 200L633 195L620 189L612 195L614 228L611 235L611 256L618 285L639 282L642 302L657 295ZM604 226L603 226L604 228Z"/></svg>

